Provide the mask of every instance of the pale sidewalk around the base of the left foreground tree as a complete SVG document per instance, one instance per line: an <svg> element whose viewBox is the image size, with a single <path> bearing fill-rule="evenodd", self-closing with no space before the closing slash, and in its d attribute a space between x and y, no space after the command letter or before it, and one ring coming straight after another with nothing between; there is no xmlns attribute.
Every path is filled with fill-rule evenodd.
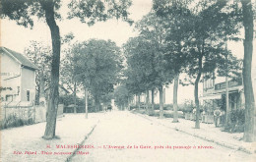
<svg viewBox="0 0 256 162"><path fill-rule="evenodd" d="M58 118L56 135L60 138L52 140L41 138L44 134L45 122L2 130L0 161L66 161L76 148L57 148L56 145L76 145L81 143L86 135L90 134L96 127L101 116L103 116L103 113L89 114L89 119L85 119L85 114L68 114L63 118ZM50 145L50 148L47 148L48 145ZM84 149L84 151L86 150ZM25 154L26 151L36 152L36 154ZM19 154L19 152L22 154ZM54 152L56 153L54 154Z"/></svg>

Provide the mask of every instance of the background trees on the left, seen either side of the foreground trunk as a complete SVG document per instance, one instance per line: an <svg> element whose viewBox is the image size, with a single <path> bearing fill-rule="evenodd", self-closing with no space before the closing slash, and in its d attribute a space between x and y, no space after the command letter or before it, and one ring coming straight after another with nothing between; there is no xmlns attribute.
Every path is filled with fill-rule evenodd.
<svg viewBox="0 0 256 162"><path fill-rule="evenodd" d="M106 107L113 99L114 84L121 80L123 57L120 48L110 40L91 39L73 42L73 39L72 33L61 39L63 46L67 47L62 50L60 84L71 91L72 94L69 97L72 97L65 103L73 104L75 113L78 106L77 93L84 91L86 117L88 117L88 98L94 100L95 111L99 110L100 103ZM35 75L36 104L45 102L45 90L50 83L50 53L48 46L36 41L32 41L31 45L25 49L27 57L39 69ZM66 96L61 97L66 98Z"/></svg>

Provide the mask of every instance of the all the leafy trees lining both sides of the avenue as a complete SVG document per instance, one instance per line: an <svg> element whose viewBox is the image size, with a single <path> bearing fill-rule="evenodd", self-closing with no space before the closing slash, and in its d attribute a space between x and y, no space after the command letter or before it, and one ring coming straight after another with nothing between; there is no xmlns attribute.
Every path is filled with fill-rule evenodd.
<svg viewBox="0 0 256 162"><path fill-rule="evenodd" d="M131 1L117 1L71 1L68 5L71 9L68 19L78 18L81 23L91 26L97 21L122 18L131 24L132 21L128 19L129 13L127 12ZM246 141L253 141L255 139L253 136L255 117L251 82L253 40L251 0L231 3L227 0L154 0L153 2L152 12L136 25L140 35L131 38L124 45L128 65L124 76L129 92L132 94L146 92L149 96L149 89L153 94L158 89L160 91L160 117L163 117L162 86L174 81L173 106L176 112L179 75L186 73L190 77L190 82L195 85L194 95L197 106L195 127L200 128L198 83L202 74L213 72L216 68L222 69L223 64L220 63L225 63L224 65L228 66L226 58L230 52L227 51L224 44L229 39L236 39L235 35L241 27L244 27L243 81L246 102L244 137ZM61 15L58 13L60 6L60 0L17 0L15 2L2 0L0 5L2 18L14 20L18 25L24 27L32 27L32 18L36 16L43 19L50 28L52 39L50 96L44 138L54 137L56 128L61 52L61 39L56 20L61 19ZM113 76L105 76L104 73L100 73L100 70L119 71L121 67L117 65L121 65L122 60L120 59L120 50L113 42L90 40L75 44L71 49L71 54L76 54L76 56L72 56L74 60L71 61L71 64L74 65L72 66L73 70L75 70L75 74L72 76L74 88L77 83L81 83L85 93L91 91L98 104L97 101L100 100L100 97L111 91L113 84L118 79L116 76L118 73L113 73ZM113 57L109 62L114 67L112 64L99 64L101 58L107 60L108 57ZM91 58L94 59L88 61ZM87 61L85 62L85 60ZM101 84L101 77L109 83ZM174 122L177 122L176 117Z"/></svg>

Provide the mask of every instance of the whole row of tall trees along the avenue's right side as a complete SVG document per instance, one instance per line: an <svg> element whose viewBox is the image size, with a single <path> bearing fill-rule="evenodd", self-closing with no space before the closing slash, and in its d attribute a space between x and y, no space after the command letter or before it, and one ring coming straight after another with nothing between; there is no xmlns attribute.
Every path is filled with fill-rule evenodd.
<svg viewBox="0 0 256 162"><path fill-rule="evenodd" d="M243 81L247 121L244 139L254 140L255 107L250 78L253 12L250 1L229 3L227 0L156 0L152 12L139 21L136 27L140 32L139 36L130 38L124 45L128 65L125 71L126 88L131 94L146 93L147 105L149 90L154 94L158 89L162 118L162 86L174 82L173 122L178 122L178 81L180 74L187 74L189 79L182 82L195 86L196 129L200 128L198 85L202 75L209 79L219 69L219 76L230 77L239 70L239 61L226 48L226 43L229 40L239 40L237 35L241 27L244 27Z"/></svg>

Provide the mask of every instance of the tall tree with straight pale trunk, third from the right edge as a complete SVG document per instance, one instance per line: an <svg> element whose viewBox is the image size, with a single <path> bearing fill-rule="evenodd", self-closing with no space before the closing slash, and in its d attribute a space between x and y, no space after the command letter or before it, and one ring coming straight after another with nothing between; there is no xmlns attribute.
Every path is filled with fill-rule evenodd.
<svg viewBox="0 0 256 162"><path fill-rule="evenodd" d="M178 122L177 114L177 89L179 74L184 72L186 67L186 42L191 34L190 19L191 12L188 9L190 1L154 1L153 9L157 16L166 22L165 28L165 50L164 60L166 60L166 71L169 71L173 77L173 122Z"/></svg>

